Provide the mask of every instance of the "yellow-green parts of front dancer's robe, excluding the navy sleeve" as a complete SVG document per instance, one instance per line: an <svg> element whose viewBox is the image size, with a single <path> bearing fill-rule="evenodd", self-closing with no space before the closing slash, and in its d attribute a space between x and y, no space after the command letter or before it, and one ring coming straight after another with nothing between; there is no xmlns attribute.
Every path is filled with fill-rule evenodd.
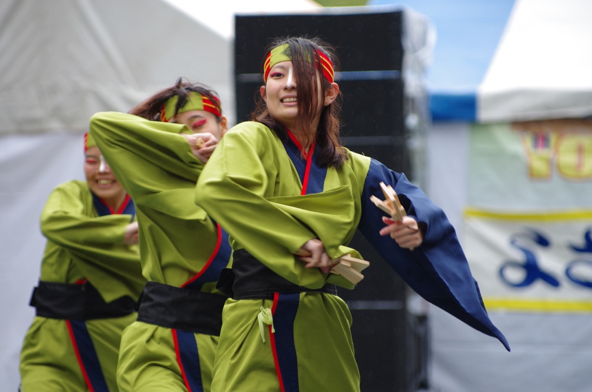
<svg viewBox="0 0 592 392"><path fill-rule="evenodd" d="M356 172L363 176L369 161L351 162L345 173L327 173L330 191L301 195L298 172L275 133L249 122L232 128L224 137L229 139L220 143L209 162L215 163L198 182L197 203L206 209L217 203L224 205L211 213L230 225L233 249L246 249L282 278L308 289L327 283L352 288L339 275L304 268L293 253L308 240L320 237L332 258L348 253L361 257L344 244L356 230L353 221L359 220L360 208L355 208L351 188L354 193L361 192L363 184L355 181ZM234 187L233 183L240 185ZM215 201L210 198L213 192L220 192ZM234 262L239 263L236 256ZM279 372L275 362L276 346L282 340L280 319L285 314L289 318L290 313L282 312L281 295L229 300L224 306L213 390L280 391L293 390L296 384L300 391L359 391L360 375L349 333L352 318L345 302L325 293L291 295L285 298L284 308L298 309L288 327L292 338L287 339L293 339L296 351L292 353L295 358L285 365L291 368ZM259 321L265 319L265 310L273 311L273 331Z"/></svg>

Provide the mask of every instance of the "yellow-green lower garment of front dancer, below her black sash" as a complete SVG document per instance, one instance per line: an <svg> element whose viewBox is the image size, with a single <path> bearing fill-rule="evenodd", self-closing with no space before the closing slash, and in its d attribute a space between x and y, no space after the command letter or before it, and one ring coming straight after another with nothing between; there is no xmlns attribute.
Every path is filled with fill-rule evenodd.
<svg viewBox="0 0 592 392"><path fill-rule="evenodd" d="M348 306L332 294L291 295L287 311L281 300L227 300L213 391L278 392L281 382L286 392L359 392ZM273 313L273 336L268 323L259 323L259 318L269 322L265 314L259 316L268 312L262 308ZM291 322L284 322L284 313L294 316ZM288 367L280 362L278 376L276 358L282 361L286 345L294 348L295 361Z"/></svg>

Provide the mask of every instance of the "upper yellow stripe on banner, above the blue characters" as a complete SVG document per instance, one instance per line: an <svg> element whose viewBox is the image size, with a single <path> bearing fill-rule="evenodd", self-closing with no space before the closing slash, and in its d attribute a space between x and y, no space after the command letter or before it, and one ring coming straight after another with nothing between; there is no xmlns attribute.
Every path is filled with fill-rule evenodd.
<svg viewBox="0 0 592 392"><path fill-rule="evenodd" d="M530 213L510 213L491 210L480 210L474 207L465 208L465 217L478 217L497 220L535 220L535 221L557 221L557 220L592 220L592 210L562 210L562 211L539 211Z"/></svg>

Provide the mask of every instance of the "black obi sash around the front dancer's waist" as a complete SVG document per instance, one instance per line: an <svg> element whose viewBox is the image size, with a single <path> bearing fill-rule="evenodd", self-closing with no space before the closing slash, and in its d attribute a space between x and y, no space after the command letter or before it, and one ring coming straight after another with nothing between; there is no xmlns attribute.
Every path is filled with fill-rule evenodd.
<svg viewBox="0 0 592 392"><path fill-rule="evenodd" d="M232 268L220 273L216 288L235 300L274 298L274 293L327 293L337 294L337 287L327 283L312 289L299 286L282 278L244 249L232 254Z"/></svg>

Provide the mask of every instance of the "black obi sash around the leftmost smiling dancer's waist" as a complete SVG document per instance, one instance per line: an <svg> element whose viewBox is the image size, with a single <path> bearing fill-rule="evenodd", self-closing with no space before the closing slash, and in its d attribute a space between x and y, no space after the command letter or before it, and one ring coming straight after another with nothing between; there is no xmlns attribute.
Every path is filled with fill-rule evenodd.
<svg viewBox="0 0 592 392"><path fill-rule="evenodd" d="M39 281L31 294L30 306L37 316L62 320L95 320L123 317L136 311L127 295L106 303L89 282L67 284Z"/></svg>

